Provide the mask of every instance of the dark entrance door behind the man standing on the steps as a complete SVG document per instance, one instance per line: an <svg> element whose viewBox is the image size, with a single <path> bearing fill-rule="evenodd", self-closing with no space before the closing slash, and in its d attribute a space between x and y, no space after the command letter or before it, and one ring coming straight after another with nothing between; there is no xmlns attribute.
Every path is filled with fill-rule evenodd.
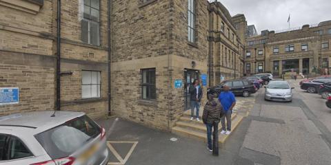
<svg viewBox="0 0 331 165"><path fill-rule="evenodd" d="M185 71L185 111L190 109L190 88L193 87L192 83L195 79L199 78L199 72L197 70Z"/></svg>

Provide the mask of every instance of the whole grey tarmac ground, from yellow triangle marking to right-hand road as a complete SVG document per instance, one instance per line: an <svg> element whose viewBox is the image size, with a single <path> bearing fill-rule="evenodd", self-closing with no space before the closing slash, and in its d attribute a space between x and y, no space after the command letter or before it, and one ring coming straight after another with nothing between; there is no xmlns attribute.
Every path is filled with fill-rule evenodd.
<svg viewBox="0 0 331 165"><path fill-rule="evenodd" d="M317 94L294 89L293 102L267 102L264 89L237 98L245 114L219 156L199 140L151 129L120 118L99 120L110 142L109 164L331 164L331 113Z"/></svg>

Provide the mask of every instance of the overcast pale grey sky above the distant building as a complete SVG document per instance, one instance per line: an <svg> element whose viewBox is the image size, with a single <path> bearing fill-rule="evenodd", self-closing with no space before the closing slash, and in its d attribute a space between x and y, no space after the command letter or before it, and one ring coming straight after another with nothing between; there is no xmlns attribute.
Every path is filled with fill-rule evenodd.
<svg viewBox="0 0 331 165"><path fill-rule="evenodd" d="M331 20L331 0L218 0L230 14L245 14L257 31L288 29Z"/></svg>

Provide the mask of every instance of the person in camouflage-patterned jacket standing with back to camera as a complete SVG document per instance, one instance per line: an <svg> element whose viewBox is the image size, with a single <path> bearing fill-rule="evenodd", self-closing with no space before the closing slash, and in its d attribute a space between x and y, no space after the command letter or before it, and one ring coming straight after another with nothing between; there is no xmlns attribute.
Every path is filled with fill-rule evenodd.
<svg viewBox="0 0 331 165"><path fill-rule="evenodd" d="M212 155L219 155L219 122L222 116L221 103L215 100L214 96L208 95L208 102L205 103L202 120L207 126L208 150L212 152ZM212 133L213 128L214 132Z"/></svg>

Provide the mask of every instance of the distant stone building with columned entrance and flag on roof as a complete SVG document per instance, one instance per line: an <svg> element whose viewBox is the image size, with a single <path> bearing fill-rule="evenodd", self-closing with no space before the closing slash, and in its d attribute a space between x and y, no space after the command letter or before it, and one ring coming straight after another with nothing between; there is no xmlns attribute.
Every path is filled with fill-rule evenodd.
<svg viewBox="0 0 331 165"><path fill-rule="evenodd" d="M324 74L330 68L331 21L285 31L264 30L245 42L245 74ZM325 70L326 69L326 70Z"/></svg>

